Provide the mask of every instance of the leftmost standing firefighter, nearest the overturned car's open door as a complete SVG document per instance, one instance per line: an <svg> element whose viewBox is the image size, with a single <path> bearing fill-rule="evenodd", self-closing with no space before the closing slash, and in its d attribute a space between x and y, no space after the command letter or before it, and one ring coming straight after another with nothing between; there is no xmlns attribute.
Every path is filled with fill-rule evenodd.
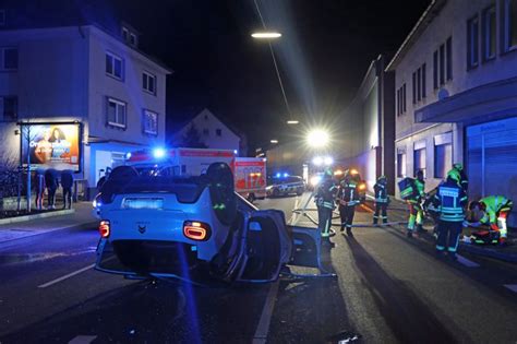
<svg viewBox="0 0 517 344"><path fill-rule="evenodd" d="M333 171L330 168L325 169L323 180L320 182L314 202L317 206L317 227L322 233L323 242L330 244L330 225L332 214L334 211L334 200L337 192L337 186L333 179Z"/></svg>

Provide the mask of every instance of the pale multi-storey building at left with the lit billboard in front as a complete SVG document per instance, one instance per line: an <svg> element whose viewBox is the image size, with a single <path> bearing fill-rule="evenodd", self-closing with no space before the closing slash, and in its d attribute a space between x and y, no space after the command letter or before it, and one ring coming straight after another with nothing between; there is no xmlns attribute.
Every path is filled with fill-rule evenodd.
<svg viewBox="0 0 517 344"><path fill-rule="evenodd" d="M91 197L101 175L122 164L128 152L164 144L170 71L139 50L137 34L129 25L119 29L113 34L85 24L0 31L3 158L25 164L28 154L43 168L61 159L58 169L69 163ZM48 139L44 132L63 132L60 126L65 124L79 127L77 149L70 149L69 138L61 149L67 153L58 156L53 142L49 161L38 161L41 154L35 150L41 151L40 142ZM24 128L33 128L36 137L27 138ZM76 155L64 162L70 150Z"/></svg>

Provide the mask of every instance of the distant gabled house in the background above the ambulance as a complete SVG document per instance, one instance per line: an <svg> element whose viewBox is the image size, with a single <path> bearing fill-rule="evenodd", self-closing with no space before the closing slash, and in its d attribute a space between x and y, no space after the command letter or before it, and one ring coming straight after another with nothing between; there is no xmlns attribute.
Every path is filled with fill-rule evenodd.
<svg viewBox="0 0 517 344"><path fill-rule="evenodd" d="M189 135L197 135L195 141L199 142L193 144L207 149L231 150L239 155L247 155L243 135L206 108L175 132L173 144L189 145L192 140Z"/></svg>

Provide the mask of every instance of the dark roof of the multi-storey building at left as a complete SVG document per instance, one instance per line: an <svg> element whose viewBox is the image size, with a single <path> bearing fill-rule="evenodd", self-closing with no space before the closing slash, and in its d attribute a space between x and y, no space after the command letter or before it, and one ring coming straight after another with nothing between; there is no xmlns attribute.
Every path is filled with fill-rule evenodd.
<svg viewBox="0 0 517 344"><path fill-rule="evenodd" d="M5 10L5 25L0 27L0 31L92 25L172 73L172 70L156 57L125 44L121 28L122 24L130 25L116 13L108 1L3 0L2 9Z"/></svg>

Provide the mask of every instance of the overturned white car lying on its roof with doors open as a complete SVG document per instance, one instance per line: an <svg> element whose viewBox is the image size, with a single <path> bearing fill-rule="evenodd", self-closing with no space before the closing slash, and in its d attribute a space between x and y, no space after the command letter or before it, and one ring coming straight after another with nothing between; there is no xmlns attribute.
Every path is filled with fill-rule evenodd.
<svg viewBox="0 0 517 344"><path fill-rule="evenodd" d="M287 264L320 268L318 230L257 210L235 192L224 163L201 176L120 166L100 191L98 271L203 283L270 282Z"/></svg>

